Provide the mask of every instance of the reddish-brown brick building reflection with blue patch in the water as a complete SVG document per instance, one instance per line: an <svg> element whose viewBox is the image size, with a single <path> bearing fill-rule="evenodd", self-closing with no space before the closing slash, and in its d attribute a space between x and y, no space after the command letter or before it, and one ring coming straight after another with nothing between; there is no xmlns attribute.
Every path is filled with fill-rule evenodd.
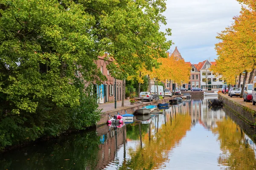
<svg viewBox="0 0 256 170"><path fill-rule="evenodd" d="M106 127L109 128L109 127ZM99 152L98 152L98 164L96 169L103 169L110 162L113 162L117 154L118 148L126 143L126 126L113 128L107 134L100 137ZM122 145L123 146L123 145Z"/></svg>

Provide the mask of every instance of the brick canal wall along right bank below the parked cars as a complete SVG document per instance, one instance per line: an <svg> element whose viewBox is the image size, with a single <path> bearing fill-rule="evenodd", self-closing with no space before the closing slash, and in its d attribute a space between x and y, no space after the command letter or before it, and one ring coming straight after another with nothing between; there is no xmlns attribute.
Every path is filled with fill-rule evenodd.
<svg viewBox="0 0 256 170"><path fill-rule="evenodd" d="M222 93L218 94L218 99L223 102L223 106L225 108L233 111L233 113L235 113L249 125L255 124L256 107L253 106L252 103L244 102L244 100L241 98L231 98Z"/></svg>

